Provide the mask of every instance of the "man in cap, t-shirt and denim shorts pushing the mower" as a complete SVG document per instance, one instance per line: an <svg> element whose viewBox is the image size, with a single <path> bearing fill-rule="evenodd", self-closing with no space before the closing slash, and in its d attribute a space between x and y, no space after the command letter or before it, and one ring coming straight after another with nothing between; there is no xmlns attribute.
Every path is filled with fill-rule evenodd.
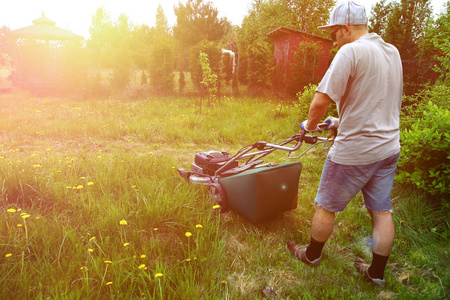
<svg viewBox="0 0 450 300"><path fill-rule="evenodd" d="M320 82L301 127L320 131L317 124L331 102L339 119L328 118L326 129L339 133L325 162L315 202L308 246L288 242L302 262L317 266L330 237L336 212L342 212L359 191L372 217L372 264L355 261L356 269L374 284L384 286L384 269L394 240L391 190L400 152L399 115L403 94L402 65L397 49L367 29L363 6L352 1L337 6L330 31L339 48Z"/></svg>

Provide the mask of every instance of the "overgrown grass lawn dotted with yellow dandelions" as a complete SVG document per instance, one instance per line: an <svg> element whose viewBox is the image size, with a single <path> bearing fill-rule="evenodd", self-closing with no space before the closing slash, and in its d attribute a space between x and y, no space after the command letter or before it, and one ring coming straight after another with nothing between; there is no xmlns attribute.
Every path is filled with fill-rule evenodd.
<svg viewBox="0 0 450 300"><path fill-rule="evenodd" d="M322 149L301 159L298 208L261 224L219 213L177 175L196 152L296 133L293 105L279 104L223 98L200 113L195 98L0 95L0 298L261 299L267 286L276 299L448 297L448 212L410 188L395 186L397 236L378 289L353 268L371 257L360 196L337 216L321 266L286 249L309 242Z"/></svg>

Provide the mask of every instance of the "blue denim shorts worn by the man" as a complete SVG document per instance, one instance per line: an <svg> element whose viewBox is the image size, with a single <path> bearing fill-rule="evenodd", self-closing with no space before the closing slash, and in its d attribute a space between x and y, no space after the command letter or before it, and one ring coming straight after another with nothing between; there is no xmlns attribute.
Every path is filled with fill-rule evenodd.
<svg viewBox="0 0 450 300"><path fill-rule="evenodd" d="M400 153L368 165L341 165L327 158L315 202L331 212L342 212L362 191L366 208L391 209L391 191Z"/></svg>

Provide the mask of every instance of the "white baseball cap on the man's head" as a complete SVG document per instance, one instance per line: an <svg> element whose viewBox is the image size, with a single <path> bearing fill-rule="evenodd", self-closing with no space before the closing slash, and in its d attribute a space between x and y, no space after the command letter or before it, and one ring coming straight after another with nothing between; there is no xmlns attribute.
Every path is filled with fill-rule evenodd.
<svg viewBox="0 0 450 300"><path fill-rule="evenodd" d="M330 24L317 28L329 30L336 25L367 25L367 22L366 8L353 1L348 1L333 9L330 16Z"/></svg>

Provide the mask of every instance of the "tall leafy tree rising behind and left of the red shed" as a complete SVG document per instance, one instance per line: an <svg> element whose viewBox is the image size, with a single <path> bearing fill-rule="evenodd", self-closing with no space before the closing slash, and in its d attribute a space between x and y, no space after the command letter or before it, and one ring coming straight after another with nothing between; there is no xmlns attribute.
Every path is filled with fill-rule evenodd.
<svg viewBox="0 0 450 300"><path fill-rule="evenodd" d="M241 57L240 80L260 92L272 72L273 41L266 34L285 26L326 36L317 26L328 23L333 0L255 0L238 32ZM279 71L279 70L277 70ZM243 73L243 74L242 74Z"/></svg>

